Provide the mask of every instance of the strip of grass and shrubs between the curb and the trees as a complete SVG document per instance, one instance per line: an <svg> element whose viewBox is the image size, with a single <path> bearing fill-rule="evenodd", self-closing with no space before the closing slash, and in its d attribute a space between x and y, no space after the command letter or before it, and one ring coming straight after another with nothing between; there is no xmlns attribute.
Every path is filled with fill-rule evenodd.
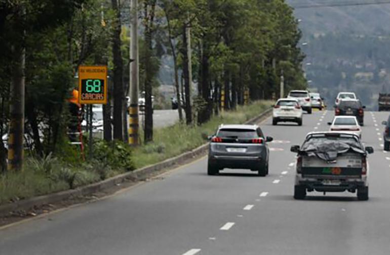
<svg viewBox="0 0 390 255"><path fill-rule="evenodd" d="M255 101L236 111L222 112L203 125L177 123L154 129L154 141L130 148L123 142L94 144L94 159L81 161L79 152L64 144L58 155L26 157L20 172L0 174L0 205L98 182L178 156L207 140L220 124L241 124L261 114L271 101Z"/></svg>

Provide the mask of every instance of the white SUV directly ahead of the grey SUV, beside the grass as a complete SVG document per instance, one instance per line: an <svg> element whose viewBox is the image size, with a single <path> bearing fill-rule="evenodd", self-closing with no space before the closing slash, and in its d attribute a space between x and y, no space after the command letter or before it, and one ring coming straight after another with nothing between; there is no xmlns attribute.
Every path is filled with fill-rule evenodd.
<svg viewBox="0 0 390 255"><path fill-rule="evenodd" d="M272 125L277 125L278 122L296 122L302 126L302 115L303 111L297 99L281 98L274 106Z"/></svg>

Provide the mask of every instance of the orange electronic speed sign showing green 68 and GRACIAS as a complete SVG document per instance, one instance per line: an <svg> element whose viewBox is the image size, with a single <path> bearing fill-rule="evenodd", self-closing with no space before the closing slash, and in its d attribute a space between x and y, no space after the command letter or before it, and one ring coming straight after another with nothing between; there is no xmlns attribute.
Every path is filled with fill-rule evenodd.
<svg viewBox="0 0 390 255"><path fill-rule="evenodd" d="M107 66L79 67L80 104L107 104Z"/></svg>

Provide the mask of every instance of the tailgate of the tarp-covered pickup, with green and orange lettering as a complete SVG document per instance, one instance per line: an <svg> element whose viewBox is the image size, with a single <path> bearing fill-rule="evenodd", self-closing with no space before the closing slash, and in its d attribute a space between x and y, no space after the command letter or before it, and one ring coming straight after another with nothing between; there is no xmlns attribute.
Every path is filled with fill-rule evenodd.
<svg viewBox="0 0 390 255"><path fill-rule="evenodd" d="M324 178L359 178L362 175L362 156L345 154L337 157L336 162L328 163L317 157L302 158L302 176Z"/></svg>

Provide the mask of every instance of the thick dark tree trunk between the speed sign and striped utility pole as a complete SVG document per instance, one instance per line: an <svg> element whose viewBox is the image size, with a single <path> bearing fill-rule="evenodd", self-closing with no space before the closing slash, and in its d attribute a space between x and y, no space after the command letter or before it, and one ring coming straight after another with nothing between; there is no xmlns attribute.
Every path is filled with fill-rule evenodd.
<svg viewBox="0 0 390 255"><path fill-rule="evenodd" d="M123 141L123 123L122 123L122 111L123 111L123 60L121 53L121 12L118 7L117 0L111 0L112 9L116 12L116 20L114 23L114 29L112 34L112 55L113 55L113 81L114 81L114 113L113 113L113 126L114 126L114 139Z"/></svg>

